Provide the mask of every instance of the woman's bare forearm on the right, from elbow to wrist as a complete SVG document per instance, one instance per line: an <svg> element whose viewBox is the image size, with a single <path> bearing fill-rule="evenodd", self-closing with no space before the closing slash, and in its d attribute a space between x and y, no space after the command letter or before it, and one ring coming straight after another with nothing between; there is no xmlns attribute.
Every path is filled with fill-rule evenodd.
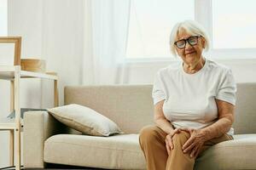
<svg viewBox="0 0 256 170"><path fill-rule="evenodd" d="M224 133L229 132L232 122L229 118L223 117L218 119L217 122L214 122L209 127L202 128L202 132L205 133L207 140L218 138Z"/></svg>

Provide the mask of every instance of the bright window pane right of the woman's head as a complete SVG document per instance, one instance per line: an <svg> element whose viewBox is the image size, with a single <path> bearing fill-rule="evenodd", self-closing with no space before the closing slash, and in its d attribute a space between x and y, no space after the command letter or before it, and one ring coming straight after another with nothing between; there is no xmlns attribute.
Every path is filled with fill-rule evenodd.
<svg viewBox="0 0 256 170"><path fill-rule="evenodd" d="M256 1L212 1L212 48L256 48Z"/></svg>

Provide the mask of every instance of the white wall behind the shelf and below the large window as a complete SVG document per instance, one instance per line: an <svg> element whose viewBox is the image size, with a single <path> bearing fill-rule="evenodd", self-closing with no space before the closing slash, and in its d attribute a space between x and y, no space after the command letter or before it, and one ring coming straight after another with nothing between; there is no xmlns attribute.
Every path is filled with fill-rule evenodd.
<svg viewBox="0 0 256 170"><path fill-rule="evenodd" d="M60 104L63 88L81 83L83 57L83 0L9 0L9 35L22 36L22 58L46 59L47 71L60 77ZM256 82L256 59L221 60L229 65L236 82ZM131 63L125 83L152 83L154 74L167 62ZM53 82L22 81L22 107L52 107ZM9 82L0 81L0 117L9 113ZM9 166L8 133L0 132L0 167Z"/></svg>

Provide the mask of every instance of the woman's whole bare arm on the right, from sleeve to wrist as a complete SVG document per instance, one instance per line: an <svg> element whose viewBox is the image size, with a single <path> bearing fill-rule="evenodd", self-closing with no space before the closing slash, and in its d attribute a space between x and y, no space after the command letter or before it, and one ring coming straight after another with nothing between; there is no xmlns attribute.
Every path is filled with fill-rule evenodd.
<svg viewBox="0 0 256 170"><path fill-rule="evenodd" d="M218 121L202 129L206 140L218 138L224 133L228 133L234 122L235 106L219 99L216 99L216 103L218 106Z"/></svg>

